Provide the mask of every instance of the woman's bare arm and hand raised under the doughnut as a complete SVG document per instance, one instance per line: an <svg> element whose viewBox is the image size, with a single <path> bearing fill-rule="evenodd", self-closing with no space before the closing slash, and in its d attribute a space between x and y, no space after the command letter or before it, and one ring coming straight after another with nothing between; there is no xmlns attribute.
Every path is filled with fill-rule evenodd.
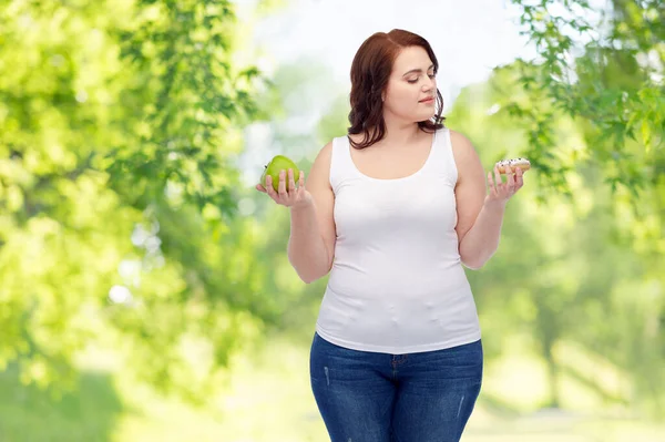
<svg viewBox="0 0 665 442"><path fill-rule="evenodd" d="M450 136L458 167L456 186L458 224L456 230L460 257L462 264L468 268L479 269L499 248L505 204L508 198L521 187L521 184L518 187L512 178L513 187L507 187L505 194L497 196L490 193L488 195L484 169L473 145L467 137L454 131L450 131ZM501 183L498 173L497 178L498 184ZM509 177L507 185L510 182ZM505 197L507 195L508 197Z"/></svg>

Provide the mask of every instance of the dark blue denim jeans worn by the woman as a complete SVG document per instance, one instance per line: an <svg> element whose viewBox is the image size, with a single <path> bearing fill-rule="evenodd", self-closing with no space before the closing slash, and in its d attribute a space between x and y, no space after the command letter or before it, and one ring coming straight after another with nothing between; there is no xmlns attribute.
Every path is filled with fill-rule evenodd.
<svg viewBox="0 0 665 442"><path fill-rule="evenodd" d="M351 350L315 332L309 370L331 442L457 442L480 393L480 340L408 354Z"/></svg>

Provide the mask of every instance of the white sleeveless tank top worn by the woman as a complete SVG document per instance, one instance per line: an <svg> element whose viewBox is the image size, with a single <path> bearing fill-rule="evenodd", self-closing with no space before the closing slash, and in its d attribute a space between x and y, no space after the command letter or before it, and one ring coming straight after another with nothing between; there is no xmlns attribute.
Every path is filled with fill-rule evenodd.
<svg viewBox="0 0 665 442"><path fill-rule="evenodd" d="M332 140L335 259L316 331L341 347L403 354L480 339L458 250L450 132L403 178L362 174L346 136Z"/></svg>

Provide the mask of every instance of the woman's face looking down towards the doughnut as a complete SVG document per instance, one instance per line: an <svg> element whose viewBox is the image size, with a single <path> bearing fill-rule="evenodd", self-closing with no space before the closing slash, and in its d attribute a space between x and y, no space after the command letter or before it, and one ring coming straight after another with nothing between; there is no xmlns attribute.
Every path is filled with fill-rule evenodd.
<svg viewBox="0 0 665 442"><path fill-rule="evenodd" d="M436 113L436 97L434 66L427 51L421 47L402 49L383 95L385 111L408 122L426 121Z"/></svg>

